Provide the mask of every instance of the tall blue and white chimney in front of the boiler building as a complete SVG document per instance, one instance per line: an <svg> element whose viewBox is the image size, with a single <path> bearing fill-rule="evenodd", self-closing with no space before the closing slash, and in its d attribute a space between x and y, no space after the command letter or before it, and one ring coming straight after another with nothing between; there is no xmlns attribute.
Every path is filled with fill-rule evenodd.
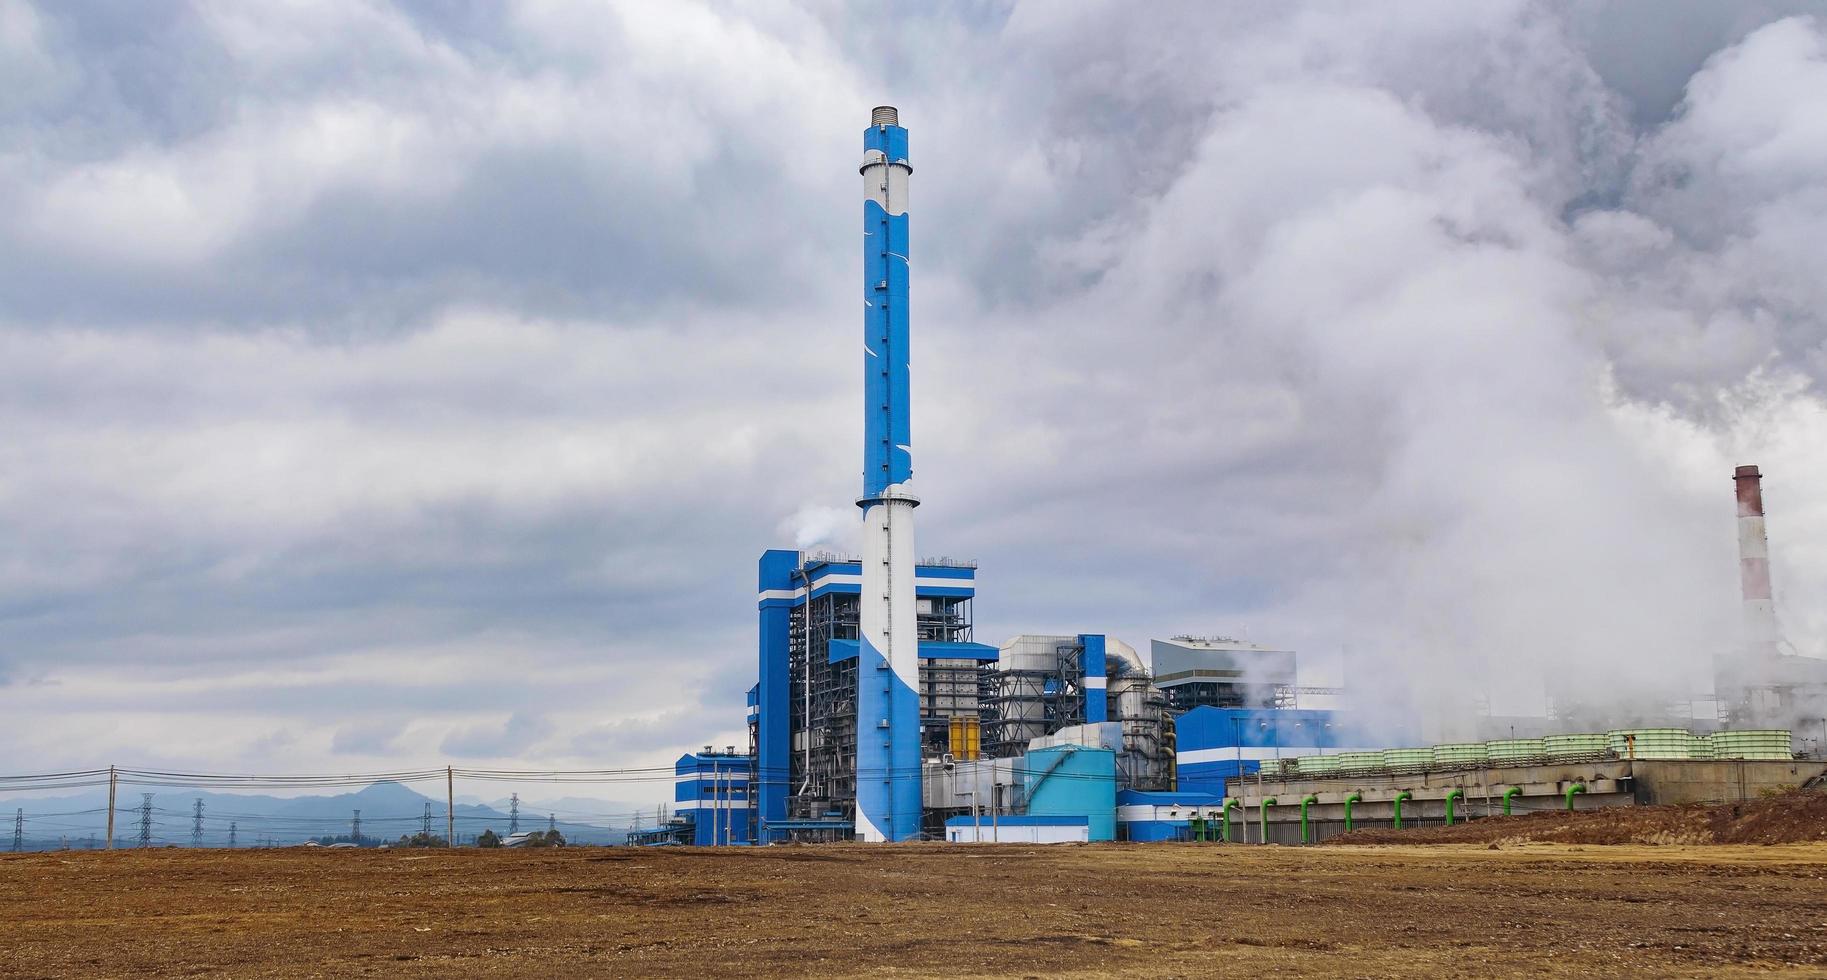
<svg viewBox="0 0 1827 980"><path fill-rule="evenodd" d="M862 609L857 836L921 830L914 437L908 419L908 132L877 106L862 135Z"/></svg>

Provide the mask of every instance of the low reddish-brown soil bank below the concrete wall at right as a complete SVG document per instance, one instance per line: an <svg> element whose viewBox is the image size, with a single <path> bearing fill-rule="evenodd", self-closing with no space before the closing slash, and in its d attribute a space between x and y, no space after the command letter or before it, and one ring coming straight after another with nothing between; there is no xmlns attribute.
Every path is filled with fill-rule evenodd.
<svg viewBox="0 0 1827 980"><path fill-rule="evenodd" d="M1330 837L1339 845L1522 843L1564 845L1783 845L1827 841L1827 794L1794 792L1747 803L1613 806L1487 817L1452 826L1372 828Z"/></svg>

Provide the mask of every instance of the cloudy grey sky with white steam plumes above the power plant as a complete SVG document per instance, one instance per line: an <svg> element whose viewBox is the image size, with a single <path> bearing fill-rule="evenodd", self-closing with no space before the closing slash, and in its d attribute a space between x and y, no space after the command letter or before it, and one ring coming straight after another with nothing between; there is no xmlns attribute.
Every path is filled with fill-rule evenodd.
<svg viewBox="0 0 1827 980"><path fill-rule="evenodd" d="M857 519L881 102L979 640L1705 691L1758 463L1823 655L1823 91L1801 2L0 0L0 746L738 740L756 556Z"/></svg>

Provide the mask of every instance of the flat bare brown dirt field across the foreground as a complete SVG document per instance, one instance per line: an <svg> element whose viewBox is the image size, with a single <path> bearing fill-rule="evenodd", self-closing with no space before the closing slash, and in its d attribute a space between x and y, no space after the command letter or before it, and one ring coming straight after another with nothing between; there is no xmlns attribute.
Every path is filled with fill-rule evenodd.
<svg viewBox="0 0 1827 980"><path fill-rule="evenodd" d="M1827 845L0 856L0 976L1827 976Z"/></svg>

